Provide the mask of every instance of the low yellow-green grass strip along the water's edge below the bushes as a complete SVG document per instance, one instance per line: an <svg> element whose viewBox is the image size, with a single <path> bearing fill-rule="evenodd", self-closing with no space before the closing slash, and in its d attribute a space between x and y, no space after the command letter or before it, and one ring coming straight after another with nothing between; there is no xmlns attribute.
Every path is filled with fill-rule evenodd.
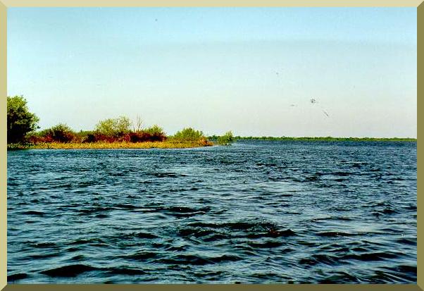
<svg viewBox="0 0 424 291"><path fill-rule="evenodd" d="M20 149L184 149L208 147L212 142L46 142L33 144ZM12 148L10 148L12 149ZM17 147L13 149L18 149Z"/></svg>

